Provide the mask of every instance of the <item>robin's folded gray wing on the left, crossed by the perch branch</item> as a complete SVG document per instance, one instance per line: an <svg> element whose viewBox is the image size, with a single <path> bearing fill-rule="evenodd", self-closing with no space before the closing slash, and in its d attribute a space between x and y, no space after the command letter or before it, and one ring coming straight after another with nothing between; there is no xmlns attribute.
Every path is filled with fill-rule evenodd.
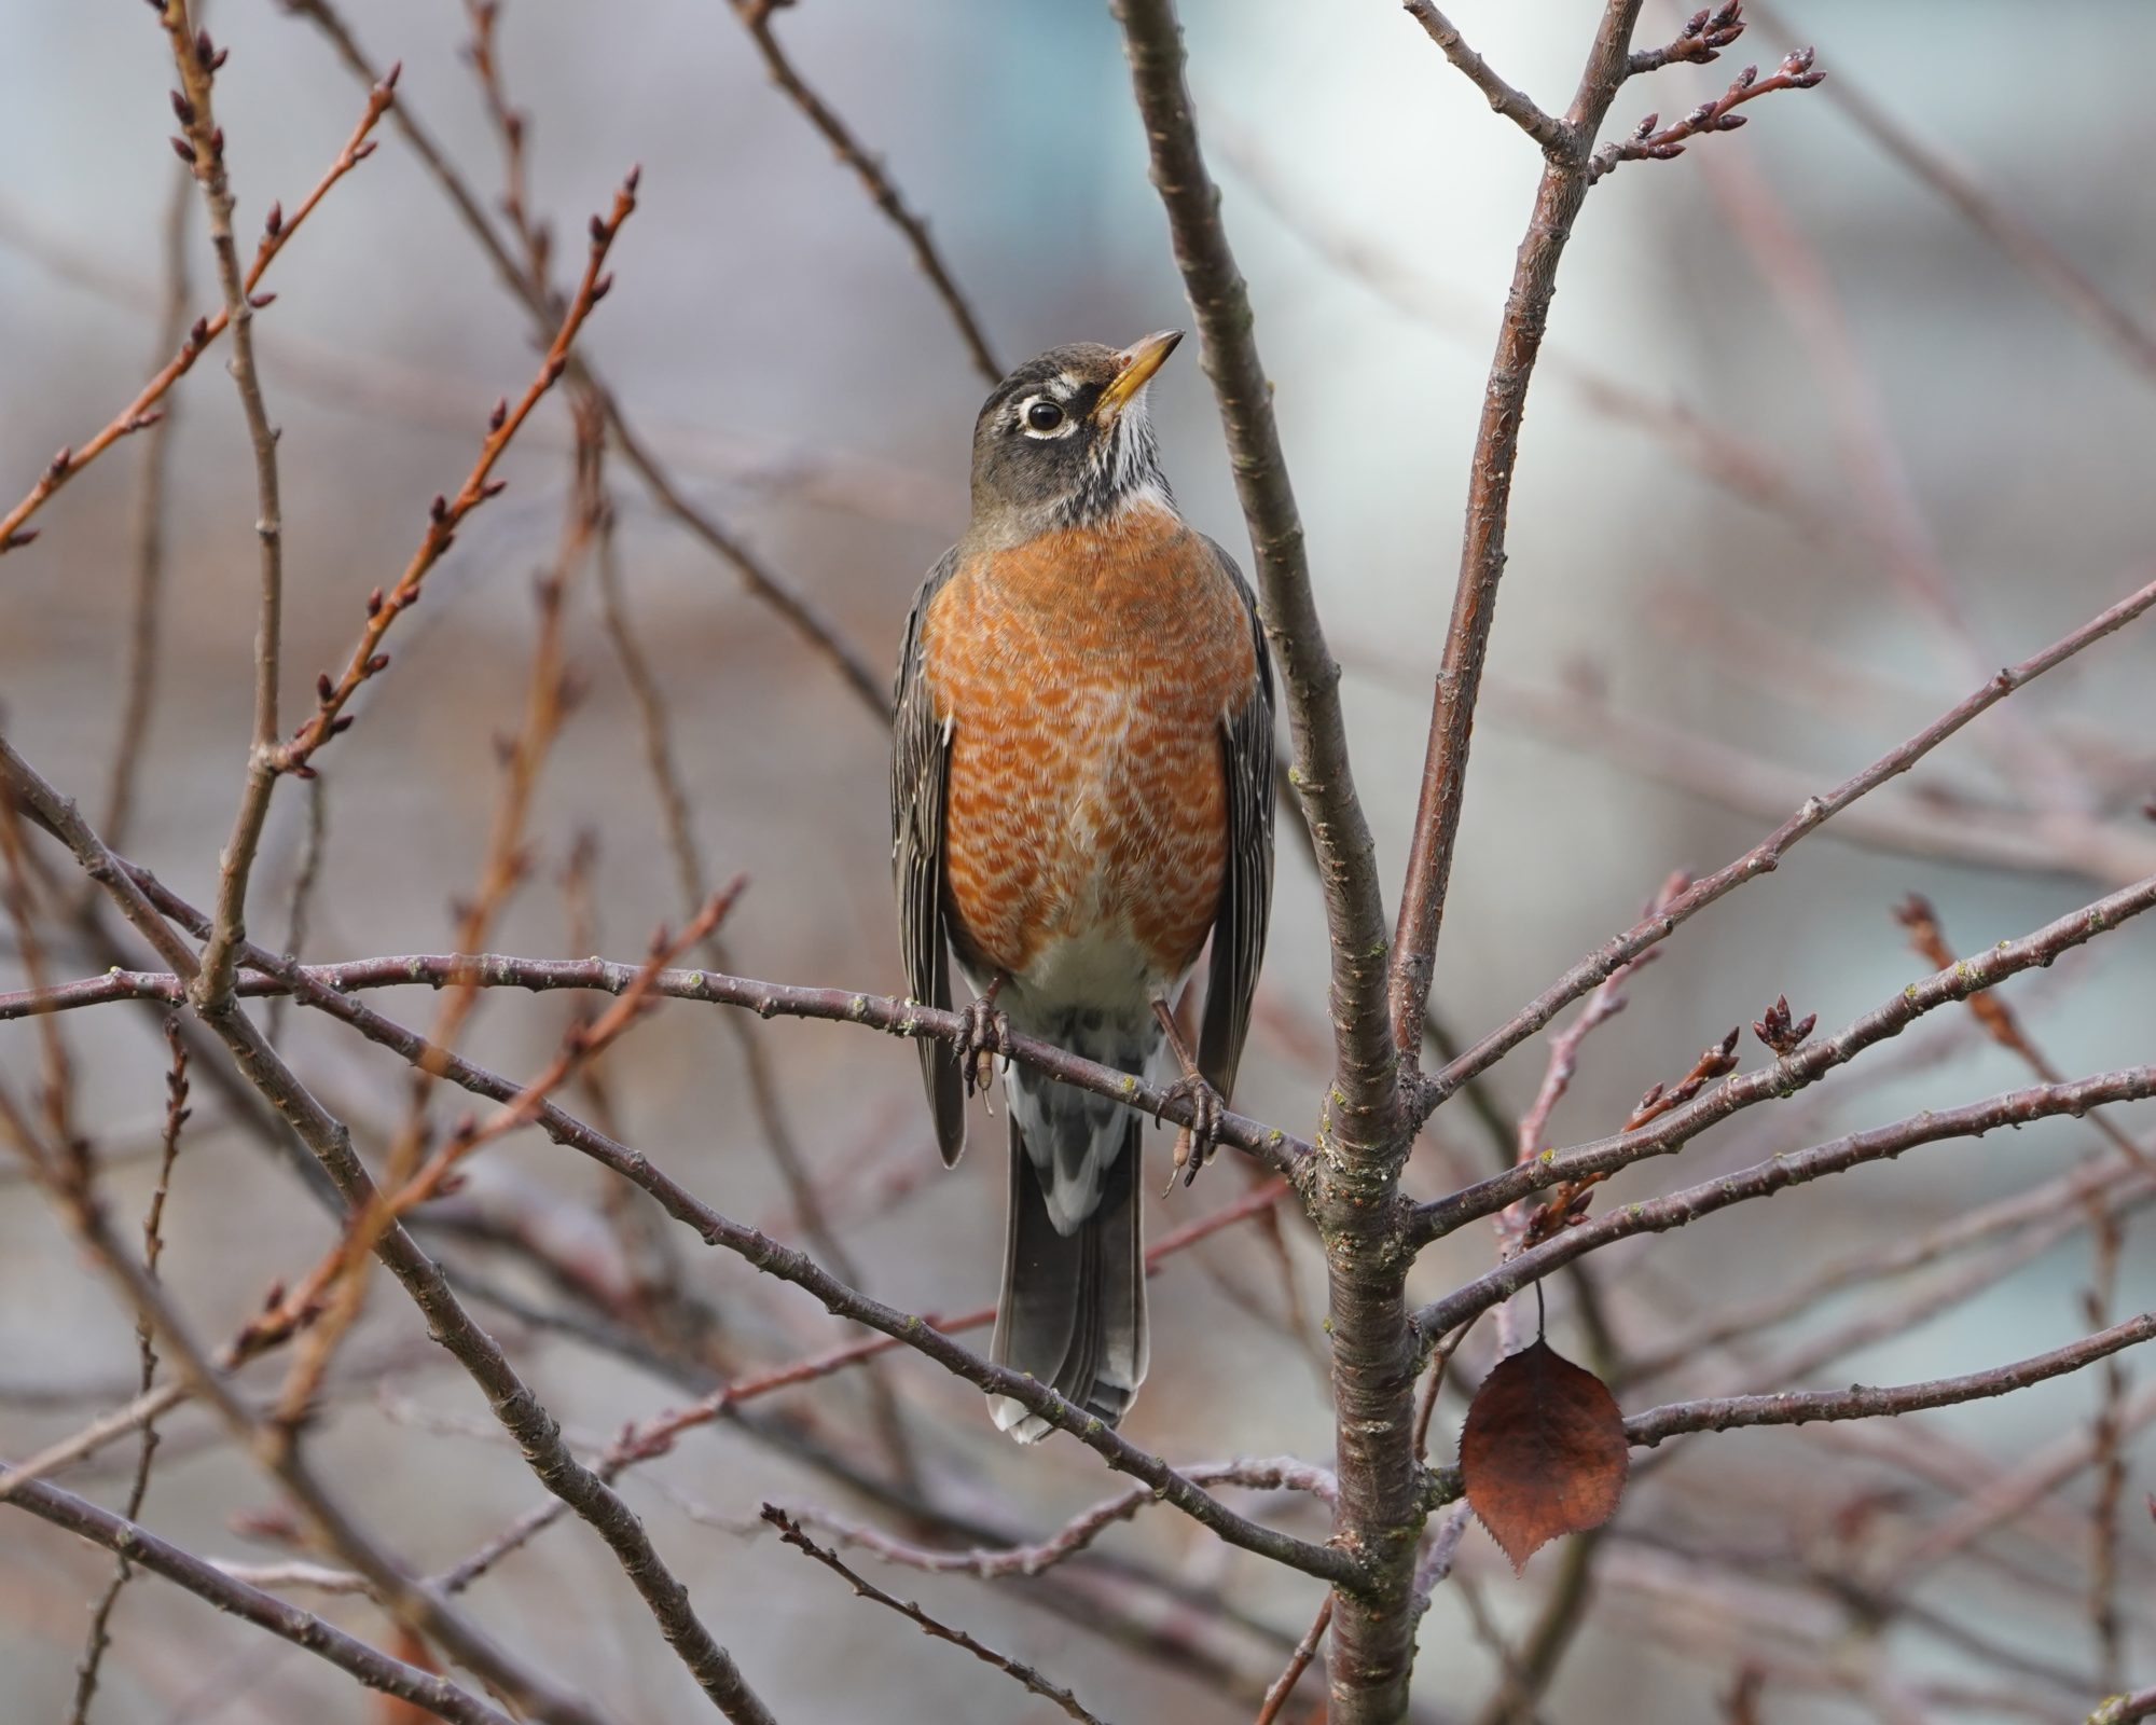
<svg viewBox="0 0 2156 1725"><path fill-rule="evenodd" d="M925 1007L951 1009L951 944L944 929L944 781L951 763L951 733L936 720L921 675L921 619L929 599L951 580L957 552L942 563L914 595L906 619L906 645L893 686L890 737L890 871L899 888L899 938L906 947L906 994ZM951 1044L918 1037L921 1080L936 1117L936 1145L944 1164L966 1149L966 1089L959 1082Z"/></svg>

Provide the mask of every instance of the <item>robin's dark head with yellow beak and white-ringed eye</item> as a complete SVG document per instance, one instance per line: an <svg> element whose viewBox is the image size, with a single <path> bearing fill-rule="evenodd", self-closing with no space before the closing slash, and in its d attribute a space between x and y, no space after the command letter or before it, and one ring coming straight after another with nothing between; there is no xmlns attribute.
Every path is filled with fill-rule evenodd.
<svg viewBox="0 0 2156 1725"><path fill-rule="evenodd" d="M975 533L1022 541L1134 500L1166 505L1145 386L1181 339L1050 347L996 384L972 429Z"/></svg>

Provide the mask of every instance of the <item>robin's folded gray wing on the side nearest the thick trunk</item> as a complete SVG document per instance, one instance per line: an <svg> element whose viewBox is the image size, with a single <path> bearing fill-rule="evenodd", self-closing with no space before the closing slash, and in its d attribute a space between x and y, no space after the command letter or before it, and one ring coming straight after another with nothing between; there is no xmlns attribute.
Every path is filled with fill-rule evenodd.
<svg viewBox="0 0 2156 1725"><path fill-rule="evenodd" d="M1214 556L1250 612L1257 649L1257 688L1240 714L1220 727L1227 765L1227 873L1220 914L1212 934L1205 979L1205 1022L1199 1026L1199 1072L1222 1098L1235 1089L1235 1067L1250 1033L1250 998L1266 957L1266 921L1272 914L1272 653L1257 621L1257 597L1242 571L1212 539Z"/></svg>

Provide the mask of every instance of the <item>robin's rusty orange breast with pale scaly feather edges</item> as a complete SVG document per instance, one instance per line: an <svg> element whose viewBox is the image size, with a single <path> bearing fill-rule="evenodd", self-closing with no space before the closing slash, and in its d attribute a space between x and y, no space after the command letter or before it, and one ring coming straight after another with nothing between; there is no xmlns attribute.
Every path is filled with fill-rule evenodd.
<svg viewBox="0 0 2156 1725"><path fill-rule="evenodd" d="M1125 927L1158 979L1220 906L1220 724L1257 679L1210 548L1162 509L962 565L921 625L951 722L946 895L962 953L1024 975Z"/></svg>

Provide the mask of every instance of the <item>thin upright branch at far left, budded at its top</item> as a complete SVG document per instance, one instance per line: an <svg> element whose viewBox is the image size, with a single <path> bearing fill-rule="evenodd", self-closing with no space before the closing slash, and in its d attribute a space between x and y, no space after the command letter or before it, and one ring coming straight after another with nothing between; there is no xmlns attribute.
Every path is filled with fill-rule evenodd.
<svg viewBox="0 0 2156 1725"><path fill-rule="evenodd" d="M248 776L233 815L233 834L218 858L218 903L209 944L203 949L203 975L196 983L196 1005L222 1013L233 1003L233 977L239 968L239 942L246 940L248 873L261 847L263 822L270 817L270 796L278 776L278 664L285 636L285 526L278 507L276 431L263 405L261 380L254 373L254 300L239 272L239 246L233 242L233 188L224 172L224 127L211 114L211 82L224 54L207 30L188 22L188 0L164 0L164 30L172 41L172 63L179 69L179 91L172 112L188 129L172 147L194 168L209 209L209 246L218 259L218 285L224 289L224 313L233 332L233 388L248 420L248 442L254 448L254 537L261 546L261 599L254 619L254 742L248 748Z"/></svg>

